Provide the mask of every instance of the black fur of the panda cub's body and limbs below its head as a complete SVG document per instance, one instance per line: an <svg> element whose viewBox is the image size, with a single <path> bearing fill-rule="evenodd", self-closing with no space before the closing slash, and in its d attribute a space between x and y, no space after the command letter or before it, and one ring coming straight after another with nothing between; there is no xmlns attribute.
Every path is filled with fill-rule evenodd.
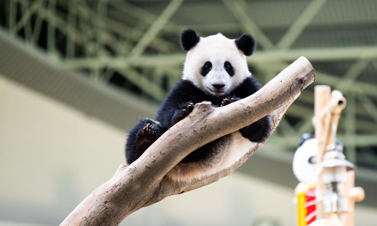
<svg viewBox="0 0 377 226"><path fill-rule="evenodd" d="M143 147L138 146L138 141L141 138L137 134L146 124L153 124L153 130L156 131L155 139L157 139L159 136L161 136L162 133L167 131L170 127L184 118L184 116L193 109L193 107L188 107L190 103L193 103L195 105L196 103L202 101L210 101L212 102L212 105L214 107L221 107L222 102L225 98L229 100L231 100L231 98L234 98L234 101L237 101L239 99L250 96L260 88L261 85L256 81L254 77L248 77L242 82L242 84L236 87L233 92L228 93L224 96L213 96L208 95L207 93L198 89L193 85L191 81L181 80L177 82L177 84L173 87L167 98L162 102L161 106L157 110L156 120L161 124L161 126L156 124L151 119L144 118L141 119L141 121L139 121L139 123L136 124L135 127L131 130L126 145L127 162L129 164L132 163L139 156L141 156L141 154L143 154L143 152L149 147L150 144L154 142L154 140L150 140L148 147L146 147L146 145L144 145ZM183 113L183 110L185 110L186 113ZM271 131L270 118L269 116L265 116L264 118L254 122L251 125L248 125L247 127L242 128L239 131L241 132L242 136L253 142L264 141L265 139L267 139ZM217 140L214 140L207 145L204 145L203 147L199 148L198 150L187 156L185 159L183 159L182 162L193 162L205 159L206 156L216 155L216 153L213 153L213 151L219 149L215 147L218 146L222 141L224 141L224 139L226 140L229 138L228 136L224 136Z"/></svg>

